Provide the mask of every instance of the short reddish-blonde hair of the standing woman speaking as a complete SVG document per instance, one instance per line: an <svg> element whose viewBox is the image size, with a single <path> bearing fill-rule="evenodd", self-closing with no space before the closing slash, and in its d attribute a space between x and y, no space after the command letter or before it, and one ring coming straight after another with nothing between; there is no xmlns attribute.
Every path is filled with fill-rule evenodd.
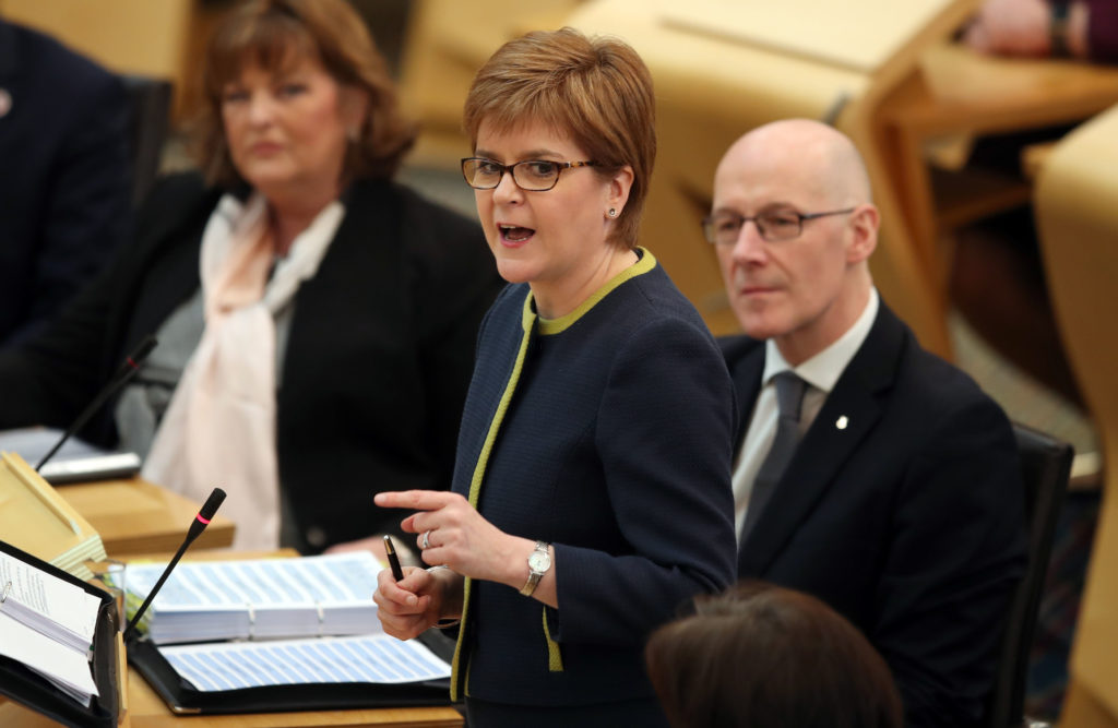
<svg viewBox="0 0 1118 728"><path fill-rule="evenodd" d="M550 126L578 144L606 178L632 168L633 186L612 242L636 246L656 161L656 103L652 75L632 47L574 28L510 40L470 87L463 125L473 148L483 122L498 132Z"/></svg>

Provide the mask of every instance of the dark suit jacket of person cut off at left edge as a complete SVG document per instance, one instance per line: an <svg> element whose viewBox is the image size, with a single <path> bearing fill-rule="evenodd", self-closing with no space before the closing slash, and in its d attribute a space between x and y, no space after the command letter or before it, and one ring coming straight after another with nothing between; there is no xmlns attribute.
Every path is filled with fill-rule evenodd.
<svg viewBox="0 0 1118 728"><path fill-rule="evenodd" d="M41 328L112 256L132 215L121 81L0 20L0 348Z"/></svg>

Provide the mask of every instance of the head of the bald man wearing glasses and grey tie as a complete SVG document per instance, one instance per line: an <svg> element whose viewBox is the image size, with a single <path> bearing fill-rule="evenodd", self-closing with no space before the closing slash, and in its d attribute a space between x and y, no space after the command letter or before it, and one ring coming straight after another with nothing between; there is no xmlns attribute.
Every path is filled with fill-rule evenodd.
<svg viewBox="0 0 1118 728"><path fill-rule="evenodd" d="M742 330L774 339L789 363L865 310L878 210L862 157L831 126L779 121L735 142L714 176L710 225Z"/></svg>

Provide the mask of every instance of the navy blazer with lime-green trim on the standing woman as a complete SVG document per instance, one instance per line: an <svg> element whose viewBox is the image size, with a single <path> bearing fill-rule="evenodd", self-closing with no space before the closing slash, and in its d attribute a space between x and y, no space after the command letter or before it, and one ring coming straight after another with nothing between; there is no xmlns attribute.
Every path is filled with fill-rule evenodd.
<svg viewBox="0 0 1118 728"><path fill-rule="evenodd" d="M626 274L567 316L527 316L531 343L481 484L486 520L555 546L558 609L474 582L463 621L467 694L524 706L523 725L544 706L582 706L590 719L626 700L647 711L632 725L663 725L644 642L733 578L732 385L652 256ZM524 337L528 294L509 286L482 325L454 473L463 495Z"/></svg>

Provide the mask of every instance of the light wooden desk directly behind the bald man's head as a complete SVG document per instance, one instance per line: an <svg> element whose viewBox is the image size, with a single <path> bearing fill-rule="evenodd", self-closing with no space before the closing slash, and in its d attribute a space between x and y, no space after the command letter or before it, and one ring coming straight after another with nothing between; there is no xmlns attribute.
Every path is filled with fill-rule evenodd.
<svg viewBox="0 0 1118 728"><path fill-rule="evenodd" d="M908 236L887 158L871 131L871 110L891 84L912 73L920 49L946 35L975 3L913 3L910 10L925 19L922 25L907 15L909 10L897 18L881 12L878 0L794 0L765 9L738 4L731 9L721 0L686 4L598 0L581 6L569 19L585 31L618 36L633 45L655 79L660 157L642 244L656 254L716 333L737 330L713 252L698 227L709 210L718 161L733 140L766 122L792 116L837 119L836 125L854 138L866 158L882 209L881 245L871 261L874 281L923 344L949 356L942 295ZM737 34L710 30L719 25L721 12L730 13L726 27ZM808 17L812 22L803 22ZM762 19L771 31L768 40L748 30L755 21L765 25ZM866 66L864 58L823 63L819 54L788 51L788 38L798 34L800 46L824 44L831 55L844 53L843 44L851 39L832 34L834 22L862 22L882 34L875 57L887 59L884 64ZM779 38L784 40L778 42Z"/></svg>

